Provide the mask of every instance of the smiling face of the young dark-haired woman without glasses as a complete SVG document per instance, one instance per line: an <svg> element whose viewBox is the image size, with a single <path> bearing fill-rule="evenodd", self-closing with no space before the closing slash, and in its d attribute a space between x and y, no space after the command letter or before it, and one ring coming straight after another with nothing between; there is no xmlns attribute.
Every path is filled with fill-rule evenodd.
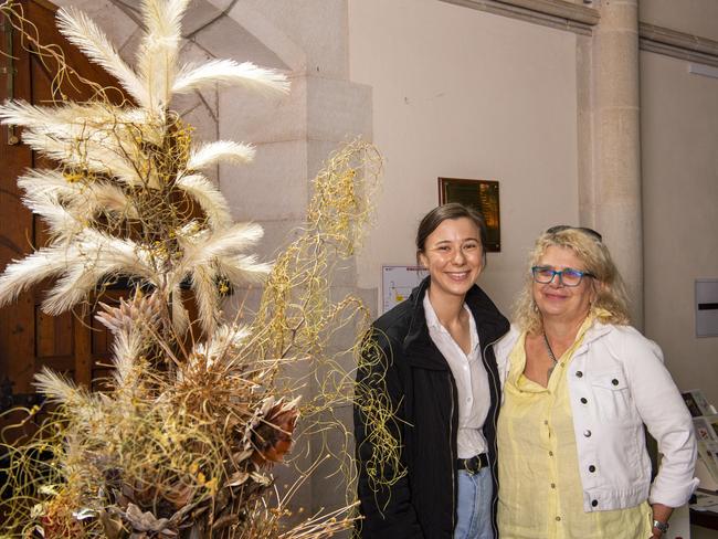
<svg viewBox="0 0 718 539"><path fill-rule="evenodd" d="M432 298L464 297L482 272L482 255L481 232L471 219L446 219L436 226L419 254L431 276Z"/></svg>

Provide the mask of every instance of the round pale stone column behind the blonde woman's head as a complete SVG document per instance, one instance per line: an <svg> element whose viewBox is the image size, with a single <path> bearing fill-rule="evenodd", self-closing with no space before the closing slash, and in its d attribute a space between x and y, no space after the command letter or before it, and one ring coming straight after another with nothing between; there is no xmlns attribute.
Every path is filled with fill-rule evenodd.
<svg viewBox="0 0 718 539"><path fill-rule="evenodd" d="M643 326L638 0L602 0L594 28L593 173L582 179L581 221L604 237L625 279L632 323Z"/></svg>

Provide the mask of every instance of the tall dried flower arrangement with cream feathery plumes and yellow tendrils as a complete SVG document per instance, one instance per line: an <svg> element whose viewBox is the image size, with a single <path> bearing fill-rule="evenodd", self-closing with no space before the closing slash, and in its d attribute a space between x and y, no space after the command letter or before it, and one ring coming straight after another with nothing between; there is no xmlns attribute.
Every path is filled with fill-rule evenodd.
<svg viewBox="0 0 718 539"><path fill-rule="evenodd" d="M353 297L331 303L329 279L334 261L351 256L360 241L381 161L368 144L347 145L317 177L300 237L273 265L247 254L262 229L234 224L202 170L219 160L247 162L254 149L197 145L170 103L208 84L274 92L288 84L250 63L179 67L188 2L142 0L137 70L82 12L59 11L62 33L134 103L114 105L98 88L87 103L0 107L4 124L23 127L24 144L59 163L18 180L52 239L6 268L0 303L54 278L43 310L59 314L108 279L137 284L97 316L114 337L106 390L89 392L49 370L36 376L54 408L31 441L4 447L0 537L298 539L351 526L349 504L287 528L286 497L270 472L289 451L300 412L326 418L350 399L350 377L326 346L341 327L366 327L368 314ZM17 21L12 9L0 6ZM225 321L222 295L247 281L264 281L253 321ZM194 331L183 283L198 306ZM296 361L323 372L321 391L302 406L297 384L279 377Z"/></svg>

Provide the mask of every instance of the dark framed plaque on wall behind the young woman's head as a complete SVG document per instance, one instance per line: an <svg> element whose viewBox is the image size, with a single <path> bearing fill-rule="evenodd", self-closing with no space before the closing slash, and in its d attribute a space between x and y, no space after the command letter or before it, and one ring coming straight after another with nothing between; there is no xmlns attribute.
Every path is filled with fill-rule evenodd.
<svg viewBox="0 0 718 539"><path fill-rule="evenodd" d="M439 203L447 202L461 202L478 210L486 221L484 249L489 253L501 251L498 181L439 178Z"/></svg>

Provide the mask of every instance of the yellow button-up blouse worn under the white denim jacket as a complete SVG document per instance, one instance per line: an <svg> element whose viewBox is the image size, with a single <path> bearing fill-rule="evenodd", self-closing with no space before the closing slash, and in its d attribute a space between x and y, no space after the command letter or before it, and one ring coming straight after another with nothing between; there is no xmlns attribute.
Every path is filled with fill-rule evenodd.
<svg viewBox="0 0 718 539"><path fill-rule="evenodd" d="M583 490L566 379L567 366L591 327L587 318L559 358L548 387L526 376L526 334L509 356L498 420L498 528L501 539L645 539L647 501L629 509L583 512Z"/></svg>

